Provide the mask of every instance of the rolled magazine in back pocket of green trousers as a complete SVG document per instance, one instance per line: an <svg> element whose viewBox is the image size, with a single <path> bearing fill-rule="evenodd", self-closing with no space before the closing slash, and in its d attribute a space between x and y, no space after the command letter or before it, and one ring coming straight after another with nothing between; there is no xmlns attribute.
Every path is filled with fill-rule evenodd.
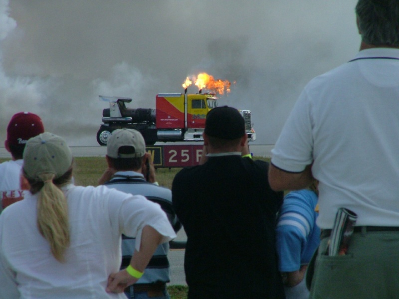
<svg viewBox="0 0 399 299"><path fill-rule="evenodd" d="M338 209L329 240L329 256L346 255L357 218L358 215L351 210Z"/></svg>

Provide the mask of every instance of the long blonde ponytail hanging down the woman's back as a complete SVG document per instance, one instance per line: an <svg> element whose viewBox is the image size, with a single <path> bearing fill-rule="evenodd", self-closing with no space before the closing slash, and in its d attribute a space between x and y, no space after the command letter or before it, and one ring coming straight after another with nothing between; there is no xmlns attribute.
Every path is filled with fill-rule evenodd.
<svg viewBox="0 0 399 299"><path fill-rule="evenodd" d="M54 183L54 174L41 173L44 182L37 200L37 227L50 244L51 253L64 262L64 253L70 245L68 204L64 193Z"/></svg>

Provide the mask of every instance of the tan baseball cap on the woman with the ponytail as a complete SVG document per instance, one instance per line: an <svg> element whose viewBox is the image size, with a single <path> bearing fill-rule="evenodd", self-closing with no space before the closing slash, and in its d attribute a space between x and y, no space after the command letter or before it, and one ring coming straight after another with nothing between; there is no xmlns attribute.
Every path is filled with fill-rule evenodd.
<svg viewBox="0 0 399 299"><path fill-rule="evenodd" d="M62 176L72 164L72 152L62 137L44 132L29 139L23 151L23 170L27 177L38 179L42 173Z"/></svg>

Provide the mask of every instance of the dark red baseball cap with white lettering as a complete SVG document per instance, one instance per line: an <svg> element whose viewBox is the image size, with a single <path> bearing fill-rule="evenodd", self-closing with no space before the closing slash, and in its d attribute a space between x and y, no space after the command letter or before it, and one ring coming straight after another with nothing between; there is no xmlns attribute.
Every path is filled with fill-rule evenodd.
<svg viewBox="0 0 399 299"><path fill-rule="evenodd" d="M9 145L24 146L30 138L41 133L44 133L44 126L36 114L19 112L8 123L7 142Z"/></svg>

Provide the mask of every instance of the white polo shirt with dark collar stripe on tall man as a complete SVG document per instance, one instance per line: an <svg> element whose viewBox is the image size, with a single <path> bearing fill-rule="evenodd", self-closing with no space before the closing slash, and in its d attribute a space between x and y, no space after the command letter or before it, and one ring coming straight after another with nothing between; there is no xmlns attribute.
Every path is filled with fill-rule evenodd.
<svg viewBox="0 0 399 299"><path fill-rule="evenodd" d="M356 58L307 84L272 150L286 171L313 162L321 228L340 207L357 225L399 226L399 50Z"/></svg>

